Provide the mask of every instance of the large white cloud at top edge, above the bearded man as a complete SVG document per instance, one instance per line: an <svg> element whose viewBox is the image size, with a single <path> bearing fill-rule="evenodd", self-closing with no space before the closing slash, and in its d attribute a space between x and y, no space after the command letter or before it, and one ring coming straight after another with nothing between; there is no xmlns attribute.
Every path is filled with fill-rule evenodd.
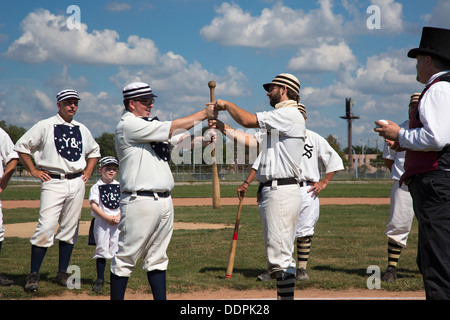
<svg viewBox="0 0 450 320"><path fill-rule="evenodd" d="M339 36L343 17L332 12L331 0L320 0L319 5L305 13L277 2L272 8L263 9L260 16L252 16L239 5L224 2L200 34L205 40L222 45L255 48L309 45L317 37Z"/></svg>

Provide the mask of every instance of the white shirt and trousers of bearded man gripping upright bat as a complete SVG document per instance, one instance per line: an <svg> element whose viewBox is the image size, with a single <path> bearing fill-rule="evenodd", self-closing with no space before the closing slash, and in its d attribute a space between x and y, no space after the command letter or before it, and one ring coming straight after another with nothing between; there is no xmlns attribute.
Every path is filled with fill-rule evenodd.
<svg viewBox="0 0 450 320"><path fill-rule="evenodd" d="M293 100L281 102L275 110L256 113L262 147L252 168L256 179L270 186L261 188L258 209L263 223L269 273L295 274L292 257L295 226L302 198L298 184L278 185L279 179L301 179L300 163L305 142L305 120Z"/></svg>

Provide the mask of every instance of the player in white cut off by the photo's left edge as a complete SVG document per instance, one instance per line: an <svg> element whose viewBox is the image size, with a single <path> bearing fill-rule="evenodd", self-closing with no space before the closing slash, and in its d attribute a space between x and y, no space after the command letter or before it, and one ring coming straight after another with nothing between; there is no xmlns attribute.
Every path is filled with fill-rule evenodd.
<svg viewBox="0 0 450 320"><path fill-rule="evenodd" d="M0 193L2 193L8 185L9 179L16 169L19 162L19 155L14 151L14 144L9 135L0 128ZM5 165L5 167L3 167ZM0 252L5 236L5 228L3 227L3 211L0 200ZM14 281L9 280L5 275L0 273L0 286L11 286Z"/></svg>

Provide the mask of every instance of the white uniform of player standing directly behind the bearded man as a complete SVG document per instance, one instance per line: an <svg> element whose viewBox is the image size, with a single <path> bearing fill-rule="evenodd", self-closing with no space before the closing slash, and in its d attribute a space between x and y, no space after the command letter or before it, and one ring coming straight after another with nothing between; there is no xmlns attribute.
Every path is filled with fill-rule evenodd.
<svg viewBox="0 0 450 320"><path fill-rule="evenodd" d="M314 227L319 220L320 203L318 196L311 196L308 190L311 185L320 181L321 165L325 166L325 173L344 170L341 157L330 144L314 131L306 130L305 147L300 168L302 209L297 223L296 237L307 237L314 234Z"/></svg>

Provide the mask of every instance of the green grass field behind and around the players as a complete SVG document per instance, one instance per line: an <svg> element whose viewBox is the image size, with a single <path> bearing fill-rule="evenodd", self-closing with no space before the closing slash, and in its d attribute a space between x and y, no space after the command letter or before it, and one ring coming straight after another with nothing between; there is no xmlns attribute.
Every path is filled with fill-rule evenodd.
<svg viewBox="0 0 450 320"><path fill-rule="evenodd" d="M332 188L333 185L336 188ZM339 196L344 189L342 186L343 184L330 184L325 190L328 191L327 195L324 192L323 196ZM22 188L24 190L15 196L24 199L29 196L27 190L32 188L39 189ZM4 195L7 196L9 191L11 196L16 191L13 189L16 188L7 189ZM175 189L178 191L174 191L174 197L186 196L194 190L198 196L210 194L208 185L195 188L177 186ZM390 183L345 185L345 190L352 195L360 194L362 189L365 189L367 197L385 197L389 195ZM221 191L222 194L226 192L234 196L235 186L221 188ZM32 198L35 198L35 195ZM5 224L37 221L38 217L38 209L3 209L3 213ZM175 208L175 221L224 223L231 227L219 230L174 231L168 250L170 259L167 271L168 292L181 293L218 288L275 290L274 281L264 283L256 281L256 277L264 272L266 267L262 227L256 206L244 206L242 210L233 277L224 278L236 213L235 206L222 206L214 210L210 207ZM83 209L82 220L90 219L89 209ZM387 266L387 238L384 230L388 220L388 205L322 206L308 263L311 280L297 282L296 290L367 288L366 281L371 275L367 273L367 268L375 265L383 272ZM408 247L403 251L398 265L399 278L392 284L381 283L382 290L423 290L422 278L415 263L416 246L417 223L414 220ZM75 293L86 292L94 295L91 291L92 281L95 279L93 253L94 247L87 245L87 237L81 236L75 245L71 260L71 265L80 268L82 278L81 289L73 290ZM58 252L57 246L53 246L48 250L41 268L39 291L33 295L26 294L23 285L29 272L29 258L29 239L8 238L6 234L0 254L0 272L14 280L15 285L0 287L1 299L45 297L62 294L68 290L54 283ZM135 291L149 291L146 274L141 270L140 264L133 272L128 288ZM109 281L98 294L109 295Z"/></svg>

